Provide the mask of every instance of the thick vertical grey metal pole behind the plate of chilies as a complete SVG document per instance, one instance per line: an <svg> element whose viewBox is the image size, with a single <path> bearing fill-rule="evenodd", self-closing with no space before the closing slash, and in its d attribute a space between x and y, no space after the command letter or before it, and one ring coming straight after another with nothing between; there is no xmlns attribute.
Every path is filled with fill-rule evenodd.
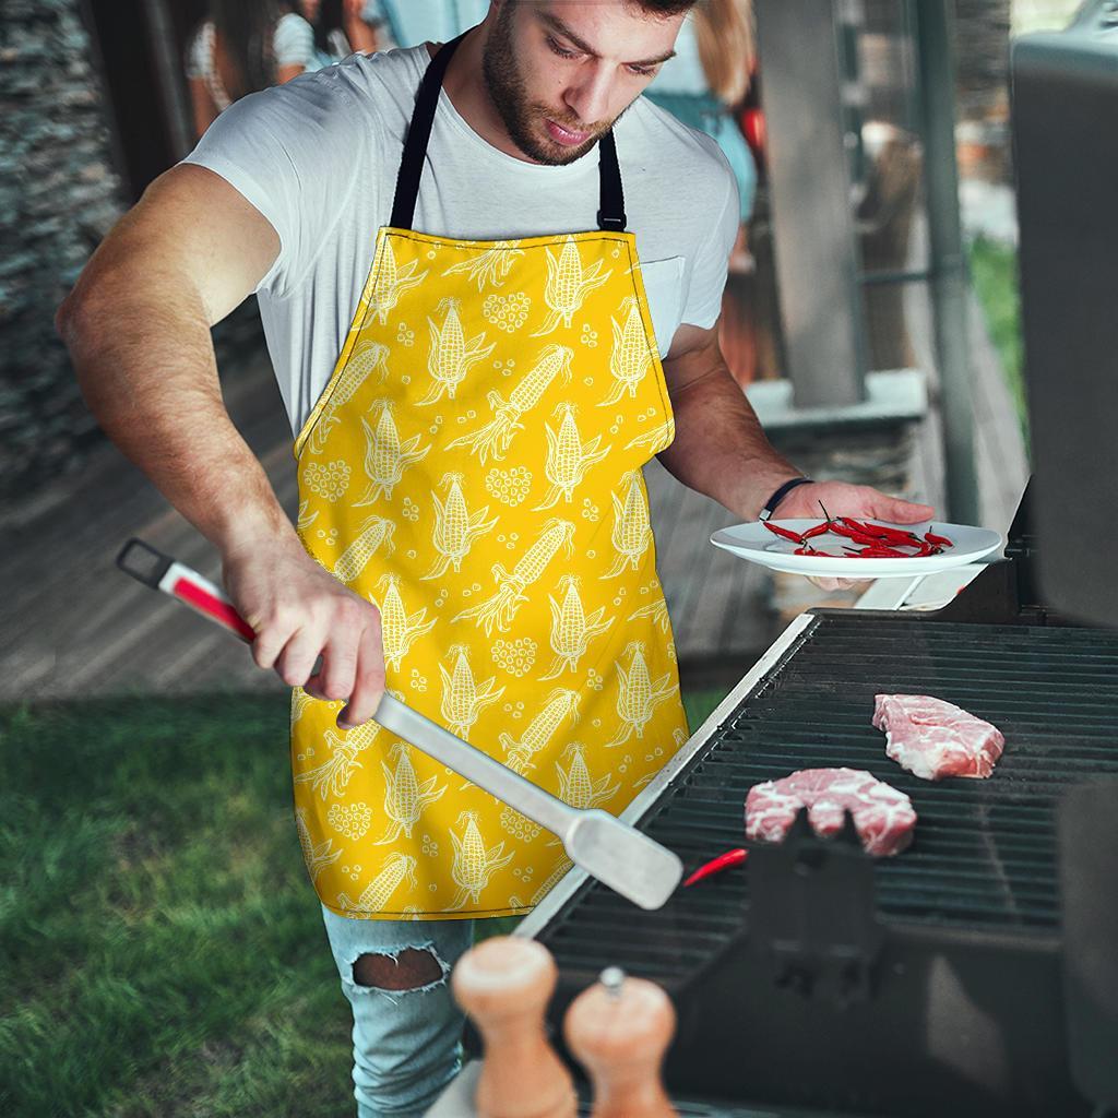
<svg viewBox="0 0 1118 1118"><path fill-rule="evenodd" d="M936 358L944 406L947 515L980 522L967 333L967 264L955 164L955 65L949 0L915 0Z"/></svg>

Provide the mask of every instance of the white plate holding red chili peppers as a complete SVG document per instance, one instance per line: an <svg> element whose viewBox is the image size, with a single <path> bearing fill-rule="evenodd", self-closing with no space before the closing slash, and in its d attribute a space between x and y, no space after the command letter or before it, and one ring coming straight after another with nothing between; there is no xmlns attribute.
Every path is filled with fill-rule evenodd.
<svg viewBox="0 0 1118 1118"><path fill-rule="evenodd" d="M803 532L817 524L818 519L774 520L771 523L794 532ZM874 521L885 523L885 521ZM812 547L821 551L834 551L834 558L822 556L797 556L796 544L770 532L759 520L748 524L735 524L714 532L710 542L717 548L730 551L750 562L758 562L770 570L790 575L811 575L823 578L908 578L913 575L932 575L937 570L949 570L968 562L976 562L1005 546L1004 538L988 528L970 524L945 524L940 520L922 521L919 524L890 524L890 528L910 530L923 536L931 531L946 536L953 541L938 556L907 556L903 559L862 559L859 556L843 556L843 547L859 547L843 536L817 536L811 540Z"/></svg>

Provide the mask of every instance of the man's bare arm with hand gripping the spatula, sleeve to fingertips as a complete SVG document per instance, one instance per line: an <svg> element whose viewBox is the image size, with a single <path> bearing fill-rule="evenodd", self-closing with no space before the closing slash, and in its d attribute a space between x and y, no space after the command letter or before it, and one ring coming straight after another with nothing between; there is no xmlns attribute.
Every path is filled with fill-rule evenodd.
<svg viewBox="0 0 1118 1118"><path fill-rule="evenodd" d="M106 434L220 550L256 662L349 698L342 713L357 724L383 689L379 615L304 551L225 409L210 338L278 252L272 225L224 179L173 168L93 255L57 326Z"/></svg>

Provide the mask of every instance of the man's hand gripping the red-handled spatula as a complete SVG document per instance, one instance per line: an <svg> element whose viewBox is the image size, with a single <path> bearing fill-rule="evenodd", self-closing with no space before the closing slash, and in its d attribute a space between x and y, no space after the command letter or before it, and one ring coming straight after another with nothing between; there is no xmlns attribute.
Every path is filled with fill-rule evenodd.
<svg viewBox="0 0 1118 1118"><path fill-rule="evenodd" d="M368 721L385 692L380 613L291 542L238 543L222 556L226 590L256 632L253 659L315 699L347 700L338 726ZM322 667L312 675L314 662Z"/></svg>

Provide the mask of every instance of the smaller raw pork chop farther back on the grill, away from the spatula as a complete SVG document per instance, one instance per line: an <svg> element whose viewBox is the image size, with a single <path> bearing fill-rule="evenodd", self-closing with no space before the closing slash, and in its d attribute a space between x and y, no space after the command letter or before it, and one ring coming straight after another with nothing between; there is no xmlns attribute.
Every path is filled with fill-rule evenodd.
<svg viewBox="0 0 1118 1118"><path fill-rule="evenodd" d="M989 776L1005 745L989 722L930 695L875 695L873 724L885 755L922 780Z"/></svg>

